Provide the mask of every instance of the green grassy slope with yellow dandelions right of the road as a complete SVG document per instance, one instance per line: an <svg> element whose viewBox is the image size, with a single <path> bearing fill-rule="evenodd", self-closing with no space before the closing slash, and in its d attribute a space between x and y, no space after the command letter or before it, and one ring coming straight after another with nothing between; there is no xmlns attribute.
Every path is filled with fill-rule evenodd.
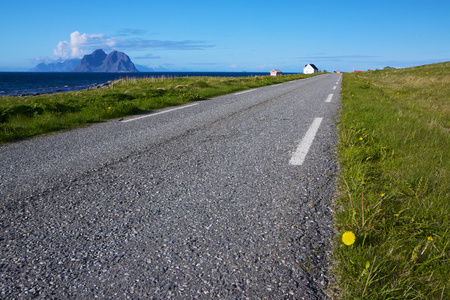
<svg viewBox="0 0 450 300"><path fill-rule="evenodd" d="M450 299L449 100L450 62L344 74L336 298Z"/></svg>

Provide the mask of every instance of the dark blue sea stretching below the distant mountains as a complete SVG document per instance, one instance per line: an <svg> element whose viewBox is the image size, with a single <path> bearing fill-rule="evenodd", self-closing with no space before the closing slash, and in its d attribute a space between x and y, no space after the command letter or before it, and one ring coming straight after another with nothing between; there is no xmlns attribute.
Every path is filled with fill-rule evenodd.
<svg viewBox="0 0 450 300"><path fill-rule="evenodd" d="M142 72L142 73L31 73L0 72L0 96L53 94L87 89L120 78L191 76L247 77L269 72Z"/></svg>

